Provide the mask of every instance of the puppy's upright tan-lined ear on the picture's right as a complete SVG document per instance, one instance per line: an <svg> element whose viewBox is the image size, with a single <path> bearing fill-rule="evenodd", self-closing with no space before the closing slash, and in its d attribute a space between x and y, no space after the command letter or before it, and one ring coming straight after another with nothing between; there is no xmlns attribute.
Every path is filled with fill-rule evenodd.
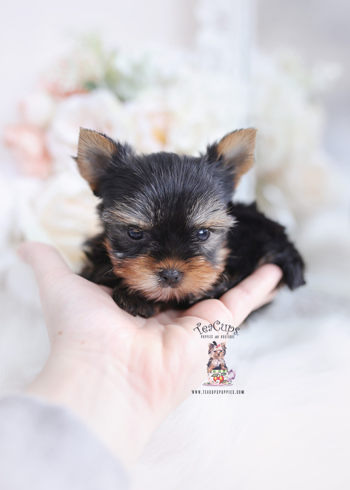
<svg viewBox="0 0 350 490"><path fill-rule="evenodd" d="M256 129L239 129L228 133L217 144L208 147L209 162L219 162L230 171L236 186L239 179L254 165Z"/></svg>

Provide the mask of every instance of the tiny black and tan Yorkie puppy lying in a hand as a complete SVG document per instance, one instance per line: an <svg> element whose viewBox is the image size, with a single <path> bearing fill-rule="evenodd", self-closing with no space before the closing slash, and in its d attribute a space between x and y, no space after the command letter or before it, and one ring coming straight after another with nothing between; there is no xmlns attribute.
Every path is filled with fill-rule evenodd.
<svg viewBox="0 0 350 490"><path fill-rule="evenodd" d="M128 145L80 129L75 158L101 201L103 232L85 244L83 277L113 288L114 301L148 318L225 291L266 263L290 289L303 262L284 228L255 204L232 204L253 165L255 129L227 134L199 157L138 155Z"/></svg>

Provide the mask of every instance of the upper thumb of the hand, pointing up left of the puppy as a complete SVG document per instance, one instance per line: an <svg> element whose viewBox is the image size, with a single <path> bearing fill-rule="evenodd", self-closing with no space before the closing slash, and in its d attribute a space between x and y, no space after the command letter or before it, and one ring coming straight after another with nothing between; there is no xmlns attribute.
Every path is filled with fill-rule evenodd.
<svg viewBox="0 0 350 490"><path fill-rule="evenodd" d="M60 277L72 273L59 251L53 246L26 242L18 248L17 253L33 268L39 286L48 275L53 278L53 276Z"/></svg>

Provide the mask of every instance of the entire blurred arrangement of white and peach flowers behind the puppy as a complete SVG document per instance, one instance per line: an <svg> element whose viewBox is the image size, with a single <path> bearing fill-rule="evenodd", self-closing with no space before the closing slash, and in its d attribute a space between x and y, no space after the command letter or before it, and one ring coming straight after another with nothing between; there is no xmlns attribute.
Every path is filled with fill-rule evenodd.
<svg viewBox="0 0 350 490"><path fill-rule="evenodd" d="M315 95L331 76L324 67L307 73L289 54L279 60L259 55L248 90L236 74L210 73L190 54L126 55L85 39L21 101L19 123L5 131L17 174L3 178L2 187L16 198L8 204L12 217L0 246L44 241L79 267L81 243L98 229L97 199L71 158L79 126L128 141L140 152L187 154L236 128L255 126L250 184L260 207L293 226L329 197Z"/></svg>

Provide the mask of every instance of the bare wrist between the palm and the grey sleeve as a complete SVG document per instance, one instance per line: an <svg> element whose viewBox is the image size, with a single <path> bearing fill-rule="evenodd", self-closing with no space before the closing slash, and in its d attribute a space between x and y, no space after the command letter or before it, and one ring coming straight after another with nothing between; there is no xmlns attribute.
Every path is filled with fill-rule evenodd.
<svg viewBox="0 0 350 490"><path fill-rule="evenodd" d="M130 467L162 420L114 370L51 353L25 391L71 409Z"/></svg>

